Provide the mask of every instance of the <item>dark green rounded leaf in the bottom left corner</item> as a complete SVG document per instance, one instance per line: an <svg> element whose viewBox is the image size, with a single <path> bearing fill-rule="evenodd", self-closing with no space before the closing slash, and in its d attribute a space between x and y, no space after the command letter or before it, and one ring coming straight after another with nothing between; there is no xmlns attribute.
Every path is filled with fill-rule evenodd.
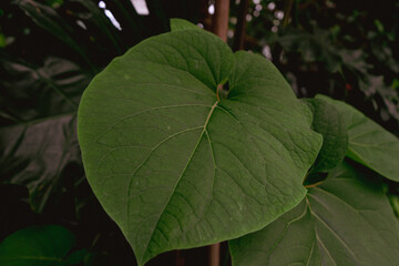
<svg viewBox="0 0 399 266"><path fill-rule="evenodd" d="M59 225L31 226L20 229L0 244L0 265L69 265L64 257L75 242L75 236Z"/></svg>

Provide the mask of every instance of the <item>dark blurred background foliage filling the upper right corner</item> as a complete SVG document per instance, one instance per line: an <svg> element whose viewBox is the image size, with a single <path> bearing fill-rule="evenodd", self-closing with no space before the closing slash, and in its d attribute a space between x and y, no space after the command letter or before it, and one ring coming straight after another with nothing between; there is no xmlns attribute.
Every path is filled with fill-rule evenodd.
<svg viewBox="0 0 399 266"><path fill-rule="evenodd" d="M248 11L245 50L270 58L297 95L345 99L399 132L397 1L263 0Z"/></svg>

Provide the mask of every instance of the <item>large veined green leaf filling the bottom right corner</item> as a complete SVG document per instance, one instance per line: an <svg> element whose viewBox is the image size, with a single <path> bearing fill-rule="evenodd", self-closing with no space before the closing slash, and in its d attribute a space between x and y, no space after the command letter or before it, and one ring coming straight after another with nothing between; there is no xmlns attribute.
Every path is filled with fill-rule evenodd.
<svg viewBox="0 0 399 266"><path fill-rule="evenodd" d="M369 175L376 174L342 163L297 207L231 241L233 265L396 265L398 221Z"/></svg>

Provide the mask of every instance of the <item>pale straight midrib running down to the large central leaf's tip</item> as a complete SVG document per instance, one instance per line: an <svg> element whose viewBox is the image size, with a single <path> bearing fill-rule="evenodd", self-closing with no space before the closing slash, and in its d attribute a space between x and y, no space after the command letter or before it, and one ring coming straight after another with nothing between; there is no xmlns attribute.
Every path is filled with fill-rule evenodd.
<svg viewBox="0 0 399 266"><path fill-rule="evenodd" d="M170 204L171 198L172 198L172 196L173 196L173 194L174 194L174 192L175 192L175 190L176 190L180 181L182 180L182 176L184 175L185 171L187 170L187 167L188 167L188 165L190 165L190 163L191 163L191 161L192 161L192 158L193 158L193 155L195 154L195 152L196 152L196 150L197 150L197 147L198 147L198 145L200 145L200 143L201 143L201 140L202 140L204 133L206 133L207 124L209 123L211 116L212 116L215 108L217 106L217 103L218 103L218 101L216 101L216 102L212 105L211 111L209 111L209 113L208 113L208 115L207 115L207 117L206 117L206 121L205 121L205 123L204 123L203 131L201 132L201 134L200 134L200 136L198 136L198 141L197 141L197 143L195 144L194 150L193 150L192 154L190 155L188 161L187 161L185 167L184 167L183 171L182 171L182 174L180 175L180 177L177 178L176 184L174 185L173 190L171 191L172 193L171 193L170 197L167 198L166 204L165 204L165 206L163 207L163 209L162 209L162 212L161 212L161 214L160 214L160 217L158 217L157 221L156 221L155 226L153 227L153 231L151 232L151 236L150 236L149 242L147 242L147 244L146 244L146 247L145 247L145 249L144 249L145 252L144 252L144 254L143 254L142 260L144 260L144 258L145 258L145 255L146 255L146 253L147 253L147 248L149 248L150 243L152 242L152 238L153 238L153 236L154 236L155 228L157 227L157 225L158 225L158 223L160 223L163 214L165 213L165 209L166 209L167 205Z"/></svg>

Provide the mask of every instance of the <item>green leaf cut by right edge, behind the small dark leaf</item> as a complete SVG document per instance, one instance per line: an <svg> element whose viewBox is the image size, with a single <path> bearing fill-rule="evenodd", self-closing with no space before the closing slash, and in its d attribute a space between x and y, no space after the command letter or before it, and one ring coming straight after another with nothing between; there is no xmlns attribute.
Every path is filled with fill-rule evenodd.
<svg viewBox="0 0 399 266"><path fill-rule="evenodd" d="M399 182L399 140L355 108L317 95L334 104L344 115L349 134L347 156L385 177Z"/></svg>

